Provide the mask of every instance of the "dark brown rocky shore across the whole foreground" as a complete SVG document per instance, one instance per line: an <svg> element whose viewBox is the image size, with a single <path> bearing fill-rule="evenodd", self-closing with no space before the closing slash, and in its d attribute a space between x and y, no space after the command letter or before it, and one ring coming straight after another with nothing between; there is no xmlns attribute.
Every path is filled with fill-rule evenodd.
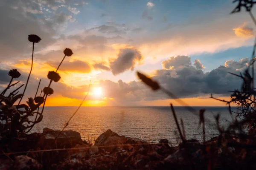
<svg viewBox="0 0 256 170"><path fill-rule="evenodd" d="M256 169L255 138L220 136L201 144L195 139L173 147L167 139L144 140L102 133L94 145L78 132L44 128L16 139L0 141L1 170L88 169Z"/></svg>

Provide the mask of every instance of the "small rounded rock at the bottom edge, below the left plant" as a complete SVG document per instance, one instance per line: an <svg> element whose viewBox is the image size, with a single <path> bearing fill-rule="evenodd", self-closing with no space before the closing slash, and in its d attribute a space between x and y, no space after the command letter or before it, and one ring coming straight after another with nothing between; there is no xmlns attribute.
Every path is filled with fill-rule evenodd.
<svg viewBox="0 0 256 170"><path fill-rule="evenodd" d="M15 157L15 170L40 170L42 165L25 155Z"/></svg>

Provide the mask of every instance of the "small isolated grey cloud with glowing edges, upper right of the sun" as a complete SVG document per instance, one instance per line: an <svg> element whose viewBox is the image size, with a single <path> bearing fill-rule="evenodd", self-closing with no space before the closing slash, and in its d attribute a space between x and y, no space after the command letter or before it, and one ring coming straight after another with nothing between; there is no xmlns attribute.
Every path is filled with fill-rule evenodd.
<svg viewBox="0 0 256 170"><path fill-rule="evenodd" d="M133 70L142 59L140 51L136 48L120 49L117 58L110 62L110 69L113 75L121 74L126 70Z"/></svg>

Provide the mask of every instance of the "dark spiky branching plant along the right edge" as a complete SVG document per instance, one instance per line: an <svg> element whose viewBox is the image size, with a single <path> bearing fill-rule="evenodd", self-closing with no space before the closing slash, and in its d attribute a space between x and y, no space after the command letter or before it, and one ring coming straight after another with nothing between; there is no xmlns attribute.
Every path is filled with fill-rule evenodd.
<svg viewBox="0 0 256 170"><path fill-rule="evenodd" d="M239 4L236 6L236 8L231 13L236 13L241 11L241 7L244 7L246 11L250 14L250 17L252 18L253 22L256 25L256 20L253 14L251 13L251 9L253 8L253 5L256 3L256 1L253 0L235 0L233 2L238 2ZM256 37L255 37L256 38ZM256 40L256 39L255 39ZM256 127L256 91L254 88L254 62L256 61L255 58L255 50L256 50L256 41L253 46L253 52L252 52L252 59L249 62L248 68L244 71L244 73L240 73L240 75L230 73L236 77L241 78L242 80L242 86L241 90L235 89L234 91L231 91L232 94L230 95L230 100L221 100L217 99L221 102L226 102L229 108L230 115L235 113L236 118L239 117L242 121L239 123L236 119L235 125L243 125L246 127L249 127L249 131L254 129ZM216 99L211 95L211 98ZM236 111L231 110L231 105L236 105ZM236 126L232 126L236 127ZM239 127L239 130L241 128Z"/></svg>

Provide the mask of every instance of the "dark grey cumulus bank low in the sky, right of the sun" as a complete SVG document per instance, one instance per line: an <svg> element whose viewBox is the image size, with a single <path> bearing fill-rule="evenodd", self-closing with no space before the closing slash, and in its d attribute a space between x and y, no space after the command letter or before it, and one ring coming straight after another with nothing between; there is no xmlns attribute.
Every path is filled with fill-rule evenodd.
<svg viewBox="0 0 256 170"><path fill-rule="evenodd" d="M190 57L177 56L175 58L178 58L176 60L183 59L183 63L191 63L187 60ZM195 63L197 63L195 65L182 65L181 68L175 67L172 70L156 70L151 78L180 98L200 97L210 94L229 96L230 90L241 88L242 81L228 72L239 74L240 71L243 72L247 69L248 62L249 59L247 58L238 62L229 60L226 65L204 72L198 68L197 64L200 62L195 60ZM202 64L200 68L203 68ZM173 72L176 72L175 76L172 75ZM99 85L102 89L105 89L105 97L113 98L120 103L132 102L133 100L140 102L169 99L160 91L151 91L148 86L140 81L123 82L119 80L113 82L111 80L101 80Z"/></svg>

